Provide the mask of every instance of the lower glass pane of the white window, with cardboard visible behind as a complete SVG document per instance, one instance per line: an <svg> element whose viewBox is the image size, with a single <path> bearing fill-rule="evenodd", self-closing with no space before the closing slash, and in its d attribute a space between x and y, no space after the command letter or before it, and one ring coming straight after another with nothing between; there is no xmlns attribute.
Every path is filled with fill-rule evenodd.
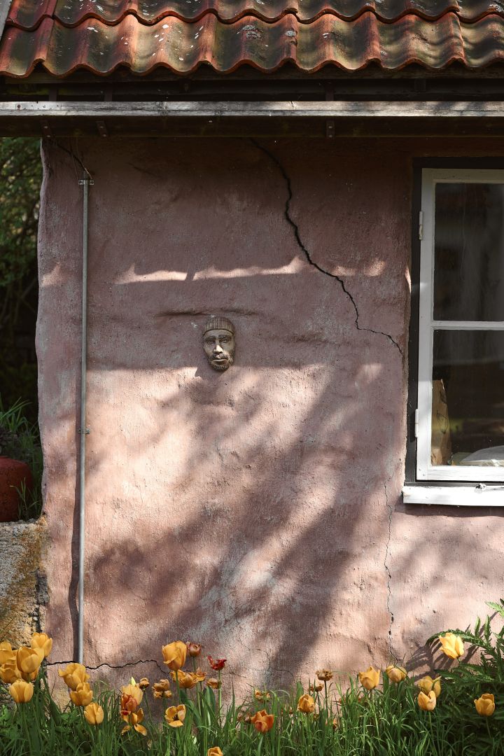
<svg viewBox="0 0 504 756"><path fill-rule="evenodd" d="M504 332L434 331L431 464L504 468Z"/></svg>

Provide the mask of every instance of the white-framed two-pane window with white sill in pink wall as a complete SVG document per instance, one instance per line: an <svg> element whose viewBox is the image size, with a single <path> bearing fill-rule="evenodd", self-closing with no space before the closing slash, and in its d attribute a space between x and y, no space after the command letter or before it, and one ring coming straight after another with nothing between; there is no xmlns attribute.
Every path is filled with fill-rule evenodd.
<svg viewBox="0 0 504 756"><path fill-rule="evenodd" d="M421 207L416 489L404 500L504 505L504 170L423 169Z"/></svg>

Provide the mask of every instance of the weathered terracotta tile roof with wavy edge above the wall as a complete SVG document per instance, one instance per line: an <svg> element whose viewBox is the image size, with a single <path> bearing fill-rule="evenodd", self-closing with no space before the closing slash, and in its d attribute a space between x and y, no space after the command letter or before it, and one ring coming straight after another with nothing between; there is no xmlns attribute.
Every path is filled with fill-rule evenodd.
<svg viewBox="0 0 504 756"><path fill-rule="evenodd" d="M305 72L372 61L478 68L502 57L504 6L488 0L14 0L0 73L29 76L38 63L54 76L201 64L271 72L288 61Z"/></svg>

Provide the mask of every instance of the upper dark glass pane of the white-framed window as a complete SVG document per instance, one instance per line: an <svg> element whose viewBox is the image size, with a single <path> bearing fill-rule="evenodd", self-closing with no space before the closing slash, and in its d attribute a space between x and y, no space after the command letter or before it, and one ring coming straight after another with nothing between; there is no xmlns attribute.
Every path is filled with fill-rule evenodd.
<svg viewBox="0 0 504 756"><path fill-rule="evenodd" d="M436 184L434 320L504 321L504 184Z"/></svg>

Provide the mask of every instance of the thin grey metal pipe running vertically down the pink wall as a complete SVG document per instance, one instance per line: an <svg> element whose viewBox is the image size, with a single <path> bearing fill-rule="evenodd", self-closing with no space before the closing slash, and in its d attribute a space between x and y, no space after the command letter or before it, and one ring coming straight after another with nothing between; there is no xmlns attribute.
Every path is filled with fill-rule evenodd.
<svg viewBox="0 0 504 756"><path fill-rule="evenodd" d="M84 557L85 557L85 440L89 429L86 426L86 376L88 358L88 222L90 178L79 181L82 186L82 321L81 321L81 423L79 445L79 600L78 600L78 661L84 658Z"/></svg>

